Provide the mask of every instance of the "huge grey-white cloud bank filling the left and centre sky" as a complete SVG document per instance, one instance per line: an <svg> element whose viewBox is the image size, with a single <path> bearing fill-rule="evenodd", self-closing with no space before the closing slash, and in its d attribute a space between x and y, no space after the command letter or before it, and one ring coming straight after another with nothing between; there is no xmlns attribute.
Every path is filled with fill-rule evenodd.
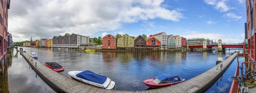
<svg viewBox="0 0 256 93"><path fill-rule="evenodd" d="M186 18L169 10L164 0L20 0L9 10L9 32L13 41L52 38L64 33L90 36L115 31L125 23L151 19L179 22ZM29 5L29 6L27 6ZM95 7L99 6L99 7Z"/></svg>

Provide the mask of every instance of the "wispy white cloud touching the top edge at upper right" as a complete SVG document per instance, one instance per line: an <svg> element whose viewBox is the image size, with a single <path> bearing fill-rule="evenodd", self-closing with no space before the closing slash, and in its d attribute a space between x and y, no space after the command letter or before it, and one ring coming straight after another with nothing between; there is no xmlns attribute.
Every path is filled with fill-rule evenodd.
<svg viewBox="0 0 256 93"><path fill-rule="evenodd" d="M204 0L204 3L215 6L215 9L219 10L220 12L226 12L231 9L236 9L234 7L228 6L227 1L228 0Z"/></svg>

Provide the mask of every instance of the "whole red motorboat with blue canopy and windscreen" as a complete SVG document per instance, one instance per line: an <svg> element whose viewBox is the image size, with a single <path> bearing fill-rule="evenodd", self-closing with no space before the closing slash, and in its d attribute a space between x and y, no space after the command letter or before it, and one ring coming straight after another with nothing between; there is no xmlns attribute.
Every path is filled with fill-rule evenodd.
<svg viewBox="0 0 256 93"><path fill-rule="evenodd" d="M154 79L144 80L143 83L151 88L162 88L171 85L175 85L180 82L184 82L185 79L181 79L175 73L165 73L160 76L156 76Z"/></svg>

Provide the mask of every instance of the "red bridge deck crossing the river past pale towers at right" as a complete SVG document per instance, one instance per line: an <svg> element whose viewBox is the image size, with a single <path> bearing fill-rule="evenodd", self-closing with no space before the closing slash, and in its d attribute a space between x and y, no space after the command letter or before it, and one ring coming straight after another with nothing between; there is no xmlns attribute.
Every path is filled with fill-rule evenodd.
<svg viewBox="0 0 256 93"><path fill-rule="evenodd" d="M218 45L207 45L207 48L218 47ZM191 45L189 48L203 48L203 45ZM222 45L222 48L244 48L243 45Z"/></svg>

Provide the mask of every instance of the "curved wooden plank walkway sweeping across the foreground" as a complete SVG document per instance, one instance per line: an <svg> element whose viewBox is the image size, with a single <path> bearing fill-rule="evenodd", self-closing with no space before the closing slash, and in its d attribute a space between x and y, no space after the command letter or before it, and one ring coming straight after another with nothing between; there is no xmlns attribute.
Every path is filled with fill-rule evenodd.
<svg viewBox="0 0 256 93"><path fill-rule="evenodd" d="M91 85L86 85L70 79L54 70L47 68L45 65L41 64L37 60L29 57L26 53L21 53L26 61L31 65L31 67L39 74L39 76L53 86L53 90L62 93L202 93L208 90L215 82L223 75L223 73L229 68L231 63L236 59L237 53L225 59L220 64L195 76L192 79L186 80L185 82L164 87L155 90L144 90L144 91L120 91L120 90L105 90L102 88L94 87ZM32 61L31 61L32 60ZM35 63L37 62L37 68L35 68ZM221 70L221 64L223 69ZM218 67L218 70L217 70Z"/></svg>

